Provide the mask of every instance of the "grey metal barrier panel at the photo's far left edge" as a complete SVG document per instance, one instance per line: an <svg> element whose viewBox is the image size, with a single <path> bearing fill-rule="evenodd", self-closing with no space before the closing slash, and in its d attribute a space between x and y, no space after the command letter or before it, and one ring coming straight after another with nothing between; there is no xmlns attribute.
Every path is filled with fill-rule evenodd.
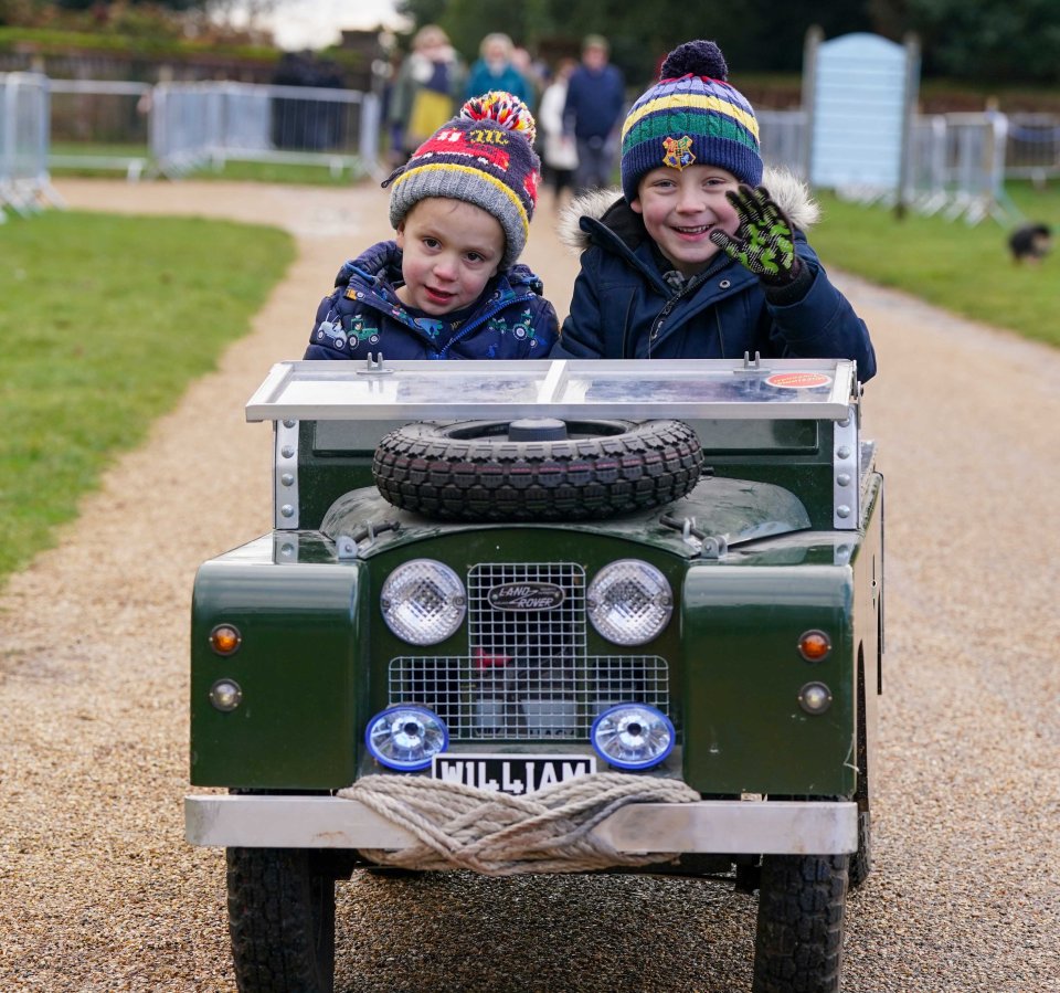
<svg viewBox="0 0 1060 993"><path fill-rule="evenodd" d="M0 221L59 202L47 172L47 77L0 73Z"/></svg>

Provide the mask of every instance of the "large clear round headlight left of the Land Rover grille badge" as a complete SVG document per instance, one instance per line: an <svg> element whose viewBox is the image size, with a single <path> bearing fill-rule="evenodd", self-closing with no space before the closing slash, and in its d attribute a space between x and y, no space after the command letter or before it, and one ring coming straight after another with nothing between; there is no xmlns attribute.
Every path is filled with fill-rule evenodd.
<svg viewBox="0 0 1060 993"><path fill-rule="evenodd" d="M379 598L386 626L413 645L444 642L464 621L464 583L448 566L414 559L386 578Z"/></svg>

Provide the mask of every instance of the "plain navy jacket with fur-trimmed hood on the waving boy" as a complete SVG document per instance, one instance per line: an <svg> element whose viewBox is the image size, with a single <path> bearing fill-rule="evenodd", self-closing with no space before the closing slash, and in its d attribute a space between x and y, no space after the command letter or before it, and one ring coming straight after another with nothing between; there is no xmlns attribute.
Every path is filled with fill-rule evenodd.
<svg viewBox="0 0 1060 993"><path fill-rule="evenodd" d="M862 382L876 373L865 321L829 282L804 229L817 205L795 176L766 170L762 184L795 228L795 283L766 287L723 252L674 288L658 249L621 190L575 200L561 239L581 252L570 316L552 358L847 358Z"/></svg>

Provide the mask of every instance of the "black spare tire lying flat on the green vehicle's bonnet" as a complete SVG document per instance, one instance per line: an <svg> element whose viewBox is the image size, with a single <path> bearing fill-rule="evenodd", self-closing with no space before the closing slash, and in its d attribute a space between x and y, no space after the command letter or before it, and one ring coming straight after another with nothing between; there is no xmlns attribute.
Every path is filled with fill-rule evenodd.
<svg viewBox="0 0 1060 993"><path fill-rule="evenodd" d="M603 519L679 499L703 463L680 421L572 421L563 441L511 442L507 430L405 424L375 450L375 485L395 507L439 520Z"/></svg>

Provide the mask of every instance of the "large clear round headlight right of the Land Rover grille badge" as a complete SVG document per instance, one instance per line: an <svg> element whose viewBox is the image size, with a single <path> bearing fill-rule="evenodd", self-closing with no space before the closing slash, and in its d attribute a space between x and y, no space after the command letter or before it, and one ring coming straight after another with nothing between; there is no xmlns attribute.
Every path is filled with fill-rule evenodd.
<svg viewBox="0 0 1060 993"><path fill-rule="evenodd" d="M605 566L589 584L589 619L616 645L643 645L656 637L674 612L666 577L638 559Z"/></svg>

